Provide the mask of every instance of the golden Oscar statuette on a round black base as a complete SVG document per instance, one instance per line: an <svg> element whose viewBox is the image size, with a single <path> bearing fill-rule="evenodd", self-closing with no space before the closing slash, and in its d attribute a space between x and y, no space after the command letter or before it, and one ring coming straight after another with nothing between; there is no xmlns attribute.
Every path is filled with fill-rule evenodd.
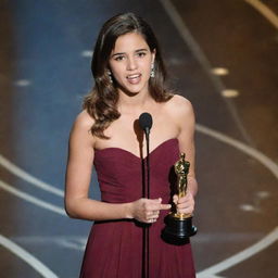
<svg viewBox="0 0 278 278"><path fill-rule="evenodd" d="M186 161L185 153L180 154L180 159L175 163L174 168L177 177L177 194L179 198L187 193L187 175L190 163ZM197 227L192 226L192 215L177 212L174 207L173 212L165 217L165 228L162 231L162 238L172 244L182 245L189 242L189 237L197 233Z"/></svg>

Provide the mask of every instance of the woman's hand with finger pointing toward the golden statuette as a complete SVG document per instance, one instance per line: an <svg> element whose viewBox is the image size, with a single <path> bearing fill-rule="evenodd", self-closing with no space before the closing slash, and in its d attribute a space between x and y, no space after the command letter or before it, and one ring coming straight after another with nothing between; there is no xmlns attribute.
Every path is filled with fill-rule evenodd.
<svg viewBox="0 0 278 278"><path fill-rule="evenodd" d="M142 223L154 223L160 216L160 211L169 210L170 204L162 204L162 199L141 198L130 203L130 217Z"/></svg>

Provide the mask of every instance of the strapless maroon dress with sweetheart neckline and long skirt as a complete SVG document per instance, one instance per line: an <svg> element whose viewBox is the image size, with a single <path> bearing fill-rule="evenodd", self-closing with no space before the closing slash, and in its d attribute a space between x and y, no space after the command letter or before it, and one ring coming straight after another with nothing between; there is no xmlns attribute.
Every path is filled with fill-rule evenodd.
<svg viewBox="0 0 278 278"><path fill-rule="evenodd" d="M170 172L179 159L177 139L150 153L150 195L170 203ZM94 166L103 202L126 203L142 195L142 160L118 148L96 150ZM150 278L195 277L191 245L173 245L161 239L161 211L150 227ZM136 220L96 222L84 255L80 278L141 278L142 228Z"/></svg>

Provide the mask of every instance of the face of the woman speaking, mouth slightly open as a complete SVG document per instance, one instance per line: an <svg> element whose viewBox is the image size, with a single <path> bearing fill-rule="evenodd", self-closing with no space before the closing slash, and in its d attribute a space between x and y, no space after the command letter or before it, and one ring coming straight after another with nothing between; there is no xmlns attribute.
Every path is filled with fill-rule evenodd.
<svg viewBox="0 0 278 278"><path fill-rule="evenodd" d="M140 34L118 37L109 62L118 89L131 94L147 92L154 56Z"/></svg>

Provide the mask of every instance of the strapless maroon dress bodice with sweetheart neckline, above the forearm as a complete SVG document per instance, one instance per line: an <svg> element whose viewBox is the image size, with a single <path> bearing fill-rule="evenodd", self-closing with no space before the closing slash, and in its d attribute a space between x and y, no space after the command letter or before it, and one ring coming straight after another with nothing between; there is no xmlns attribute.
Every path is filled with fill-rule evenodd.
<svg viewBox="0 0 278 278"><path fill-rule="evenodd" d="M179 157L178 140L168 139L156 147L149 155L150 198L169 201L173 181L173 165ZM94 167L101 190L102 201L122 203L142 197L143 168L146 159L119 148L94 151Z"/></svg>

